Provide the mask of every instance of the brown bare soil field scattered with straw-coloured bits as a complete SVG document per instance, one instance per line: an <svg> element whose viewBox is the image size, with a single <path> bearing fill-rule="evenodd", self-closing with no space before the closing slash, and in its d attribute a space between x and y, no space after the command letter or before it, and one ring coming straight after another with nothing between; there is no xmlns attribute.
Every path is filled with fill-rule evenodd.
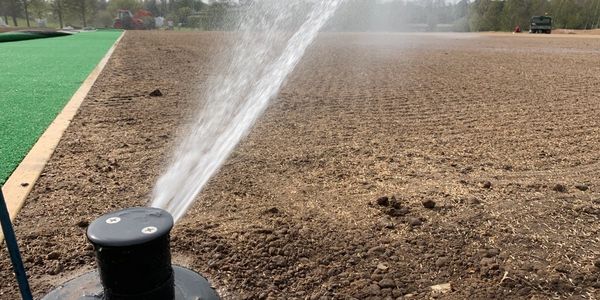
<svg viewBox="0 0 600 300"><path fill-rule="evenodd" d="M598 298L599 42L320 35L175 226L174 262L224 299ZM226 45L125 35L16 220L38 297L95 268L91 220L148 203Z"/></svg>

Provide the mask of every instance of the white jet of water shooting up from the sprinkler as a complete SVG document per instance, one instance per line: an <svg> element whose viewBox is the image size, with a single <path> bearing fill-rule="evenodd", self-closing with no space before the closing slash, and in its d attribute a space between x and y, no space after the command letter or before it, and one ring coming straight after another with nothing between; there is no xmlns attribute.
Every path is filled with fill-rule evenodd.
<svg viewBox="0 0 600 300"><path fill-rule="evenodd" d="M343 0L269 0L251 5L225 55L219 80L183 136L152 192L153 207L175 221L277 95L308 46Z"/></svg>

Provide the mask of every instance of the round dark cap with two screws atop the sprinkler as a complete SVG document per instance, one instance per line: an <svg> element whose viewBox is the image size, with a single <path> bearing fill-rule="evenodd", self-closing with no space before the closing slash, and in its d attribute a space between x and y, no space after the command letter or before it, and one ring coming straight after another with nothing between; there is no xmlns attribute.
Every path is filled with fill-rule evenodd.
<svg viewBox="0 0 600 300"><path fill-rule="evenodd" d="M153 207L134 207L112 212L94 220L87 230L90 242L103 247L128 247L167 235L173 217Z"/></svg>

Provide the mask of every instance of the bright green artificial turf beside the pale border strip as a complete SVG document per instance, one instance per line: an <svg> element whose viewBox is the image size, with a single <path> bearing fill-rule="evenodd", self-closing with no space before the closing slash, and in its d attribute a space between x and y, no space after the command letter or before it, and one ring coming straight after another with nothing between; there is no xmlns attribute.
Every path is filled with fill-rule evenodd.
<svg viewBox="0 0 600 300"><path fill-rule="evenodd" d="M94 31L0 43L0 184L120 34Z"/></svg>

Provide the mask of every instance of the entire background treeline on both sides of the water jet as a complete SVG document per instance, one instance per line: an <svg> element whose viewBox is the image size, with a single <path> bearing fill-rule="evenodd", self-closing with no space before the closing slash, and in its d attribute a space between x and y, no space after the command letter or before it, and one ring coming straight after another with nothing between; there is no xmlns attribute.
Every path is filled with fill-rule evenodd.
<svg viewBox="0 0 600 300"><path fill-rule="evenodd" d="M117 10L144 9L185 27L228 30L251 1L261 0L0 0L0 17L20 27L35 27L36 20L61 28L111 27ZM529 19L538 15L552 16L554 28L599 28L600 0L346 0L326 29L510 31L519 25L527 30Z"/></svg>

